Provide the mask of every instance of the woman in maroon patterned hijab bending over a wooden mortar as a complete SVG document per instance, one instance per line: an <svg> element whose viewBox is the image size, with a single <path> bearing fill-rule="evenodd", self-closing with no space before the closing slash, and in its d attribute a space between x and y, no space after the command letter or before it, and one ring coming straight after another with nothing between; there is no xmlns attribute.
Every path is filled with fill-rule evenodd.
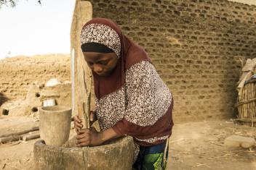
<svg viewBox="0 0 256 170"><path fill-rule="evenodd" d="M101 131L81 129L81 119L75 116L77 146L101 145L130 135L135 142L134 169L164 169L173 100L151 59L104 18L84 25L81 49L95 83L96 110L91 121L97 117Z"/></svg>

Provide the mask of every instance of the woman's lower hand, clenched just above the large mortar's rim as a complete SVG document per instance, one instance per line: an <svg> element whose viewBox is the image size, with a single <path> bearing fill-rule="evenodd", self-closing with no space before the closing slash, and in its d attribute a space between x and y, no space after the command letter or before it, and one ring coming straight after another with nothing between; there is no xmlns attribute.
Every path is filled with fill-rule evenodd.
<svg viewBox="0 0 256 170"><path fill-rule="evenodd" d="M79 134L76 136L76 146L97 146L102 144L103 137L101 132L97 132L95 127L90 129L80 129Z"/></svg>

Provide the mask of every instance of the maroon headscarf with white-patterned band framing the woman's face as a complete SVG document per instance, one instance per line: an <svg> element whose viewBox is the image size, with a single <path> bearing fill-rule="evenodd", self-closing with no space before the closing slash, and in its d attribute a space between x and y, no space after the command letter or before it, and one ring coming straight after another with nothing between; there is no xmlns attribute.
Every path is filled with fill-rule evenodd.
<svg viewBox="0 0 256 170"><path fill-rule="evenodd" d="M100 99L119 90L125 82L125 71L140 61L151 61L143 48L133 43L121 33L121 29L111 20L95 18L87 22L81 30L81 49L101 44L110 48L119 57L111 75L101 77L92 72L95 82L95 96ZM84 47L86 46L86 47ZM98 48L97 48L98 49ZM90 48L89 51L93 51Z"/></svg>

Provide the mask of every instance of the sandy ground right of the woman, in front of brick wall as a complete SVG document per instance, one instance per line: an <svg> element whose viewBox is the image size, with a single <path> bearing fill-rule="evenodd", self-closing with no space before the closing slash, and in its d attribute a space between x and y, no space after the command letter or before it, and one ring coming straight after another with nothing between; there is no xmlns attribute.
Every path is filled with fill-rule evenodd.
<svg viewBox="0 0 256 170"><path fill-rule="evenodd" d="M256 148L228 148L223 143L229 135L255 138L256 129L228 120L175 124L168 169L256 169Z"/></svg>

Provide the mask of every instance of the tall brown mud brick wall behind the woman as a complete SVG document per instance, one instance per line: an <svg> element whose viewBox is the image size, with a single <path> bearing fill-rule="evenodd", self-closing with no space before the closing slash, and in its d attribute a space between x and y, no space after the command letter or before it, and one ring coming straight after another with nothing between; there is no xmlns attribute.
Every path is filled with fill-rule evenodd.
<svg viewBox="0 0 256 170"><path fill-rule="evenodd" d="M256 56L256 7L225 0L92 0L145 48L179 121L234 116L239 57Z"/></svg>

